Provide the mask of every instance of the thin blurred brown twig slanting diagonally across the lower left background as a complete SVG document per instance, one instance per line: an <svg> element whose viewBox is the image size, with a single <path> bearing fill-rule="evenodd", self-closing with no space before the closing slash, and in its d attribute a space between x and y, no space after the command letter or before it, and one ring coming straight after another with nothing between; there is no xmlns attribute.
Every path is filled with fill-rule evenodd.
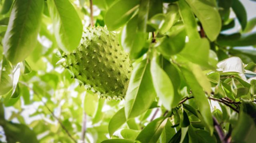
<svg viewBox="0 0 256 143"><path fill-rule="evenodd" d="M33 91L33 93L42 101L42 98L40 97L40 94L38 94L36 91L34 91L30 86L28 86L27 83L23 82L23 81L19 81L20 83L22 83L23 85L25 85L26 87L28 87L31 91ZM68 134L68 136L70 137L70 139L72 139L72 141L74 141L76 143L76 140L72 137L72 135L69 133L68 129L66 129L66 127L62 124L62 122L60 121L60 119L58 119L58 117L56 117L56 115L54 115L53 111L51 111L51 109L48 107L48 105L46 105L46 103L44 101L42 101L42 103L44 104L44 106L48 109L48 111L52 114L52 117L54 117L58 123L60 124L60 126L62 127L62 129Z"/></svg>

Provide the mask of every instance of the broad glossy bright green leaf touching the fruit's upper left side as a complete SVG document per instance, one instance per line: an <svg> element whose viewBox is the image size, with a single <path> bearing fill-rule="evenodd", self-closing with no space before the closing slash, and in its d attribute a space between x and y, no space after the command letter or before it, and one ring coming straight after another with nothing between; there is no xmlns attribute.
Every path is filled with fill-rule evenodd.
<svg viewBox="0 0 256 143"><path fill-rule="evenodd" d="M47 0L49 14L58 46L64 52L72 52L82 38L83 26L69 0Z"/></svg>

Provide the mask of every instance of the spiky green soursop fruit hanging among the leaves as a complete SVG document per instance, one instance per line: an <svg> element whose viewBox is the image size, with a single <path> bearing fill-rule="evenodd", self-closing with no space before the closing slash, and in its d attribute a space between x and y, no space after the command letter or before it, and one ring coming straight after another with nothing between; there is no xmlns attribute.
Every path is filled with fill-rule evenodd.
<svg viewBox="0 0 256 143"><path fill-rule="evenodd" d="M115 33L102 27L87 28L78 48L62 57L65 68L86 89L109 99L124 98L132 66Z"/></svg>

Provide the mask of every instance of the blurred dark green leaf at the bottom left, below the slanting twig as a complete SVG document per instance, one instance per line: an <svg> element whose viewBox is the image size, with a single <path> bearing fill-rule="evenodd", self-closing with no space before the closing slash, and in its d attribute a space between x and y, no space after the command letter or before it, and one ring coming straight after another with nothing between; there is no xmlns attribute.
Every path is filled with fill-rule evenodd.
<svg viewBox="0 0 256 143"><path fill-rule="evenodd" d="M6 122L2 127L8 143L39 143L34 131L26 125Z"/></svg>

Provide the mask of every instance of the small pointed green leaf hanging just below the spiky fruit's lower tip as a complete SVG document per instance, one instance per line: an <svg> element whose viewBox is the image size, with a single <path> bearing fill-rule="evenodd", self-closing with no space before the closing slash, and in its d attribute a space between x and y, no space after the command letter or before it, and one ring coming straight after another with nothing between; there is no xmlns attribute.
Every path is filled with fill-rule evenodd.
<svg viewBox="0 0 256 143"><path fill-rule="evenodd" d="M116 114L111 118L108 124L108 131L110 137L113 135L113 133L119 129L124 123L126 122L126 117L124 113L124 107L121 108L119 111L116 112Z"/></svg>

